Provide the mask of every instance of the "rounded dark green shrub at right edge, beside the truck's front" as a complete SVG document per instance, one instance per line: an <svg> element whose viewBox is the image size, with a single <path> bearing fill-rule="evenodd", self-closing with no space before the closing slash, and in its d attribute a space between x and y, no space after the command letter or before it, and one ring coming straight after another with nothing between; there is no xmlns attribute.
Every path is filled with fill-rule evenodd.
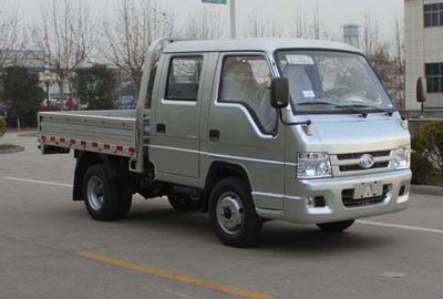
<svg viewBox="0 0 443 299"><path fill-rule="evenodd" d="M443 185L443 122L422 126L412 138L412 183Z"/></svg>

